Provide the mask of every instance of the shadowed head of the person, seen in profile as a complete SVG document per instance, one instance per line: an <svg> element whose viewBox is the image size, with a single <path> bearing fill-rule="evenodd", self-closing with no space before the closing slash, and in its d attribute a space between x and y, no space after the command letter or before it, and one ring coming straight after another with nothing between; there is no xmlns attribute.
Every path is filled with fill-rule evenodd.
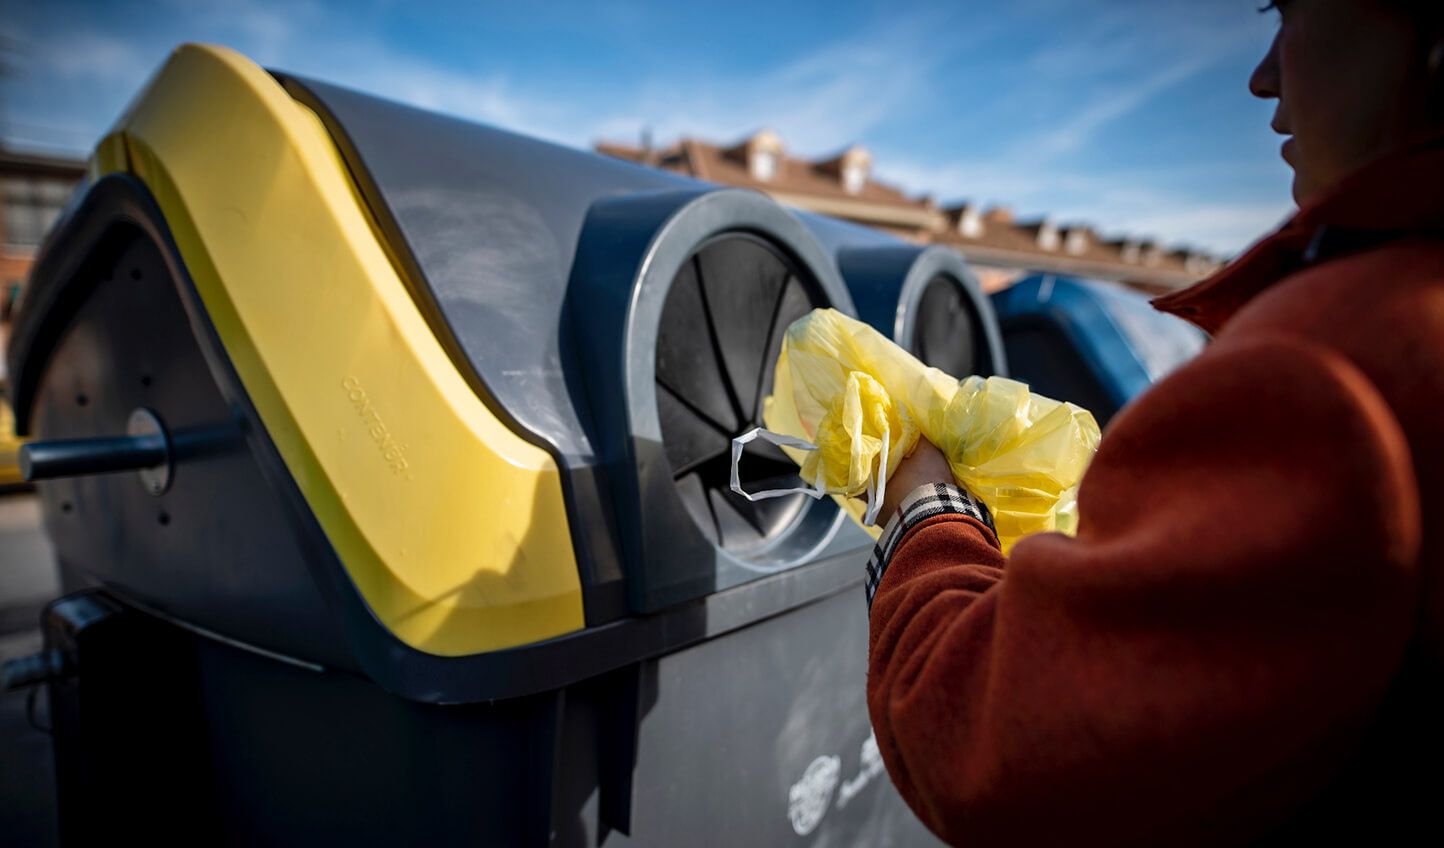
<svg viewBox="0 0 1444 848"><path fill-rule="evenodd" d="M1276 98L1274 130L1292 136L1294 201L1437 123L1431 101L1444 49L1408 0L1278 0L1278 35L1249 79Z"/></svg>

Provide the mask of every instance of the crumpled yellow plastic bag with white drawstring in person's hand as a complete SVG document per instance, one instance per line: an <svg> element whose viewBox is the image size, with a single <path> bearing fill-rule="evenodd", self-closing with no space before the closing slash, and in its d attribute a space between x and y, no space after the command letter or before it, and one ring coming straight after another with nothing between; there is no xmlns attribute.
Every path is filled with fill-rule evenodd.
<svg viewBox="0 0 1444 848"><path fill-rule="evenodd" d="M1099 442L1086 409L1004 377L959 381L835 309L814 309L787 329L762 409L767 429L734 444L739 494L783 494L738 484L742 445L762 436L801 467L809 494L836 497L877 535L887 480L921 435L988 504L1005 552L1030 533L1077 530L1077 484Z"/></svg>

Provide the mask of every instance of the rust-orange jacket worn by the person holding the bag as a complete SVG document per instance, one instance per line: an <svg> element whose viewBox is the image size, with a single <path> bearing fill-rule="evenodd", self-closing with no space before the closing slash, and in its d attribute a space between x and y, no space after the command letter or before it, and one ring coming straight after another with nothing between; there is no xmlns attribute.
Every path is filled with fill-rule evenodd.
<svg viewBox="0 0 1444 848"><path fill-rule="evenodd" d="M1432 806L1441 234L1427 143L1160 300L1214 342L1113 420L1076 539L1004 558L962 511L897 527L868 705L939 836L1378 839Z"/></svg>

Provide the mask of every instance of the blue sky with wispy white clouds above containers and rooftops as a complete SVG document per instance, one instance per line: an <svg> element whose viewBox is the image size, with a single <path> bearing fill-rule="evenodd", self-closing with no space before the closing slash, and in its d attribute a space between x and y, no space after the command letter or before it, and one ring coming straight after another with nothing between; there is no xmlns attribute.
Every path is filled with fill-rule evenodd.
<svg viewBox="0 0 1444 848"><path fill-rule="evenodd" d="M1289 209L1256 0L0 0L0 134L84 153L178 43L573 146L868 146L940 201L1235 253Z"/></svg>

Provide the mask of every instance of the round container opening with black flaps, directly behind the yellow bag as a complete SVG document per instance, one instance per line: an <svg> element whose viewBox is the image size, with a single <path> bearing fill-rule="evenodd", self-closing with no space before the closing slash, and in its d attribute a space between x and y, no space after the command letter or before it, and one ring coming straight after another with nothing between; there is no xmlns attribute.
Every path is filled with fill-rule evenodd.
<svg viewBox="0 0 1444 848"><path fill-rule="evenodd" d="M787 325L826 306L820 286L771 243L745 233L702 244L677 272L657 334L657 413L677 496L697 529L732 553L762 552L800 523L801 494L748 501L732 491L732 439L762 423ZM801 485L797 465L757 439L748 491Z"/></svg>

